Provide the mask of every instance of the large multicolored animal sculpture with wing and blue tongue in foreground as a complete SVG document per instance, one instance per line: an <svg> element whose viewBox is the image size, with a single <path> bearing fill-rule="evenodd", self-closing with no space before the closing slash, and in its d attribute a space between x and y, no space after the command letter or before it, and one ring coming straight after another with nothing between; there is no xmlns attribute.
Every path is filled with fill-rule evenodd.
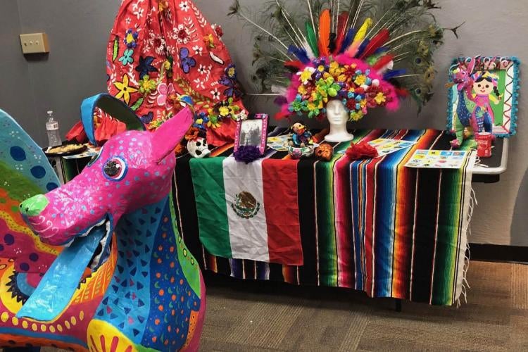
<svg viewBox="0 0 528 352"><path fill-rule="evenodd" d="M0 346L197 350L205 288L170 200L191 122L184 108L156 132L122 132L58 187L0 111Z"/></svg>

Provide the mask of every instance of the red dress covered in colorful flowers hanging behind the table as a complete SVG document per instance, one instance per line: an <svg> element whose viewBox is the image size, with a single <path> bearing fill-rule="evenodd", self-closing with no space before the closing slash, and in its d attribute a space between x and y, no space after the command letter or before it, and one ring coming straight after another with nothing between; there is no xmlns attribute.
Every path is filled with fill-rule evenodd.
<svg viewBox="0 0 528 352"><path fill-rule="evenodd" d="M192 0L133 0L121 6L108 45L108 91L149 129L174 116L189 98L201 137L207 134L213 145L232 142L236 124L226 121L247 113L236 70L221 45L222 28L210 25Z"/></svg>

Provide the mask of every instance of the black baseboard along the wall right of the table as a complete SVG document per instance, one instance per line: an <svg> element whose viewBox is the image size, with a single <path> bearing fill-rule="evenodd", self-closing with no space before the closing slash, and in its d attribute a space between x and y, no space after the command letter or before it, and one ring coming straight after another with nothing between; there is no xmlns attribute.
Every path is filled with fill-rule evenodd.
<svg viewBox="0 0 528 352"><path fill-rule="evenodd" d="M470 244L471 260L528 263L528 247Z"/></svg>

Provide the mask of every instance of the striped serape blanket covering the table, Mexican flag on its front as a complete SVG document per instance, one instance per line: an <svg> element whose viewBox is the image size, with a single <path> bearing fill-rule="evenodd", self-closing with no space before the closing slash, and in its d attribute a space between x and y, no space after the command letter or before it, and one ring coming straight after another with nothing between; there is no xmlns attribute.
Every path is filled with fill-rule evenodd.
<svg viewBox="0 0 528 352"><path fill-rule="evenodd" d="M329 162L294 161L286 152L268 150L254 165L237 166L226 158L232 146L213 150L208 159L178 158L173 187L178 226L203 268L241 279L348 287L372 297L457 302L465 277L474 158L460 170L406 168L415 150L451 149L452 137L439 130L353 134L354 143L377 138L417 143L360 161L339 153L349 142L334 144ZM258 180L255 170L266 176L244 185L251 187L249 194L233 188ZM260 215L253 214L257 203ZM260 228L247 237L249 249L233 245L233 239L244 240L237 212L260 216ZM222 244L212 243L215 236ZM203 248L204 238L218 256ZM258 260L237 259L254 256Z"/></svg>

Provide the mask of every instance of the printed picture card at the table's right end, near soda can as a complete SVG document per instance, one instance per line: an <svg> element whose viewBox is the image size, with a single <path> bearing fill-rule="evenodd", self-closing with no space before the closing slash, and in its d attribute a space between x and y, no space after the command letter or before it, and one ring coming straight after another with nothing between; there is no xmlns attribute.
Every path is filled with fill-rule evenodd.
<svg viewBox="0 0 528 352"><path fill-rule="evenodd" d="M408 168L460 169L468 151L436 151L418 149L406 163Z"/></svg>

